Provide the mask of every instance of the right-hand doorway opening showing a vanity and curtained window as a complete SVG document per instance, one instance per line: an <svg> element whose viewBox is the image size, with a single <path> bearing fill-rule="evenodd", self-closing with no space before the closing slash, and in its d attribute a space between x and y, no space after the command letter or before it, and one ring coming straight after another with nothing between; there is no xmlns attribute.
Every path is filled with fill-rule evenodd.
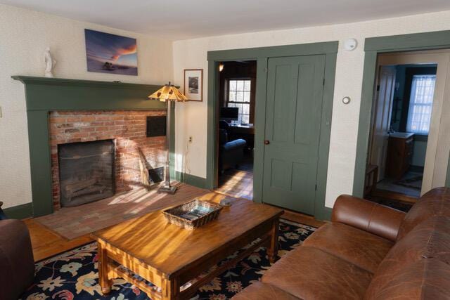
<svg viewBox="0 0 450 300"><path fill-rule="evenodd" d="M436 162L448 61L448 51L378 55L366 198L408 210L432 188L437 169L446 171Z"/></svg>

